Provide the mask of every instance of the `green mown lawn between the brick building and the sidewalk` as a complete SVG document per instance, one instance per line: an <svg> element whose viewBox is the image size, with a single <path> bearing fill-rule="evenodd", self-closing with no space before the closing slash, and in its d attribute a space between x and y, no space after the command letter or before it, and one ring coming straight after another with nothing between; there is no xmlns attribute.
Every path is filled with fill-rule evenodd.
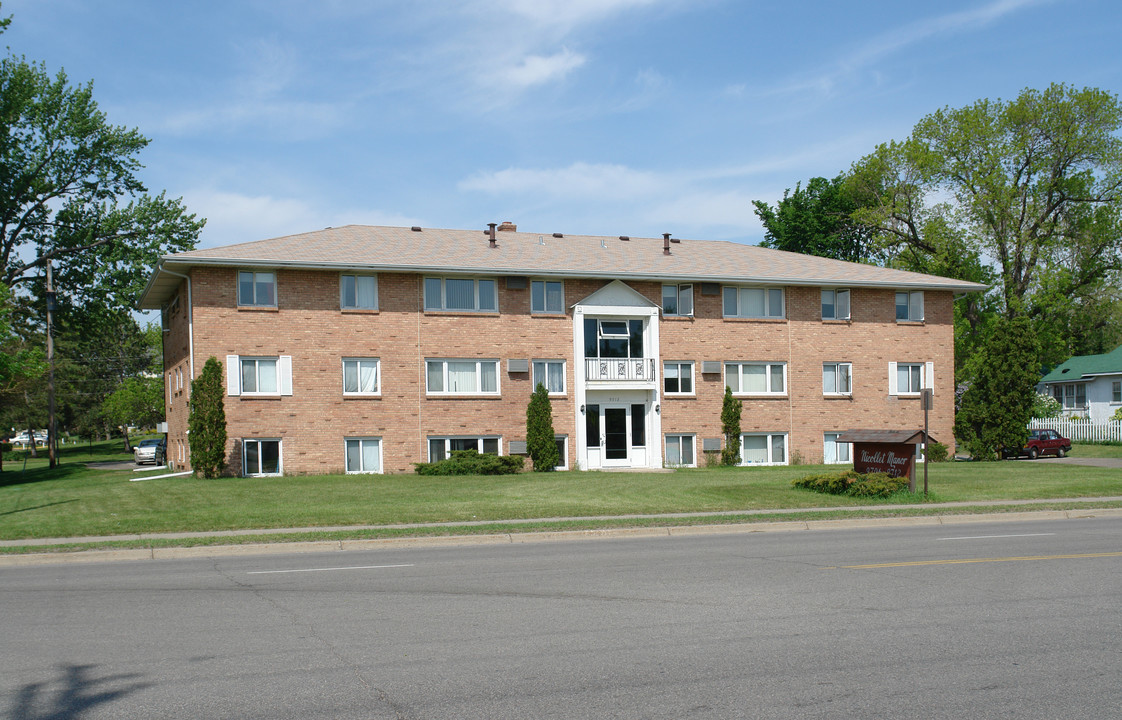
<svg viewBox="0 0 1122 720"><path fill-rule="evenodd" d="M71 447L62 464L4 459L0 539L175 530L506 520L598 515L859 507L863 501L791 488L821 465L675 472L559 472L503 477L321 476L164 478L82 462L129 459L120 442ZM1093 450L1092 450L1093 449ZM1122 446L1077 445L1077 454L1122 456ZM837 469L837 468L835 468ZM922 486L922 471L919 473ZM1122 471L1027 460L930 465L932 501L1122 496ZM893 501L917 502L918 497Z"/></svg>

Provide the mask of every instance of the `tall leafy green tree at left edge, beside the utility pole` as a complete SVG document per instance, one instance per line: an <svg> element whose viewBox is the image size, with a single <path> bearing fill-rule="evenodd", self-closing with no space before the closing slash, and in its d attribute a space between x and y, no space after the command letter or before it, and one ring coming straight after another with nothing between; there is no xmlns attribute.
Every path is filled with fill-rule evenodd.
<svg viewBox="0 0 1122 720"><path fill-rule="evenodd" d="M131 307L149 268L190 250L204 221L137 178L148 140L109 124L92 85L22 57L0 61L0 281L61 299Z"/></svg>

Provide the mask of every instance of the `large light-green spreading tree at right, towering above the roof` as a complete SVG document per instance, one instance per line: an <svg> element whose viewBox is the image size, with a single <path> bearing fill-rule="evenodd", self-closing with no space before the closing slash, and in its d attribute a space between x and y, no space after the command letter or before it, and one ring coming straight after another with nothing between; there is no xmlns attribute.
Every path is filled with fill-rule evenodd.
<svg viewBox="0 0 1122 720"><path fill-rule="evenodd" d="M854 164L854 218L901 255L957 266L956 277L974 279L992 258L1000 312L1042 319L1056 298L1116 285L1120 130L1115 95L1064 84L946 108Z"/></svg>

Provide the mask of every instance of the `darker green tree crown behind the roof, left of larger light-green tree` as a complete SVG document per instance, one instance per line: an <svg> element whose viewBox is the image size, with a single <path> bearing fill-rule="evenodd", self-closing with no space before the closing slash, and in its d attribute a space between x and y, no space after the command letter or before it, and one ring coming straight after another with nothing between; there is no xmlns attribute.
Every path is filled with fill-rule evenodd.
<svg viewBox="0 0 1122 720"><path fill-rule="evenodd" d="M753 203L764 224L760 244L776 250L804 252L852 262L880 260L874 230L853 219L858 205L845 175L834 179L812 177L803 188L783 191L783 200L771 205Z"/></svg>

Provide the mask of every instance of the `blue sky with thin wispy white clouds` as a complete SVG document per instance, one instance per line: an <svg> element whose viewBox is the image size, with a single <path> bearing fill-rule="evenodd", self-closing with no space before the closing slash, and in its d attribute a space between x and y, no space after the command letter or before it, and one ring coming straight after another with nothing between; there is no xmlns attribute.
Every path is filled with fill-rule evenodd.
<svg viewBox="0 0 1122 720"><path fill-rule="evenodd" d="M1118 0L3 0L200 247L350 223L756 243L925 116L1122 89Z"/></svg>

